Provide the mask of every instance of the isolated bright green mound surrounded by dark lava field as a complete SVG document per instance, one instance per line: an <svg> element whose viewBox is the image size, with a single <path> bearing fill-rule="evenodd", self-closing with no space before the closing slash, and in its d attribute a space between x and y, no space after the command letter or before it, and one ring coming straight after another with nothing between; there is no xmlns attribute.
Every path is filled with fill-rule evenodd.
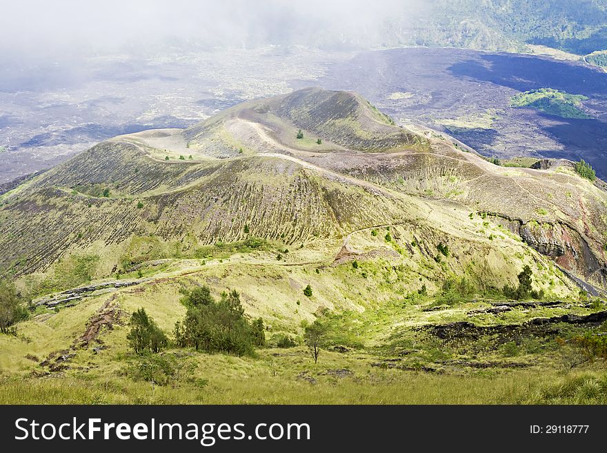
<svg viewBox="0 0 607 453"><path fill-rule="evenodd" d="M534 108L561 118L590 119L592 117L581 110L581 101L586 99L588 97L581 94L568 94L553 88L540 88L516 94L510 99L510 106Z"/></svg>

